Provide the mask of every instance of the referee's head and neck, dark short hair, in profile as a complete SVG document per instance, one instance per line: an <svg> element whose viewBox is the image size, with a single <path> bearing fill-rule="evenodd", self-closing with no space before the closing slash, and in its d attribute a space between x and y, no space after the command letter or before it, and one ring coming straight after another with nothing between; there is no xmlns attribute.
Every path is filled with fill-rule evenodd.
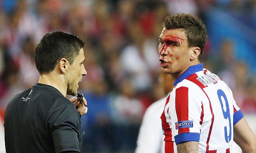
<svg viewBox="0 0 256 153"><path fill-rule="evenodd" d="M75 96L78 83L87 74L83 46L84 42L70 33L53 31L43 36L35 52L39 83L58 88L64 96Z"/></svg>

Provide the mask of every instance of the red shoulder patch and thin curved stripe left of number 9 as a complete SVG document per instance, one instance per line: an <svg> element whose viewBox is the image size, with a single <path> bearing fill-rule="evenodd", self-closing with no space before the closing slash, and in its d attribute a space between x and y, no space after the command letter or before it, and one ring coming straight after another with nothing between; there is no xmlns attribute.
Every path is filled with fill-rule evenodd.
<svg viewBox="0 0 256 153"><path fill-rule="evenodd" d="M215 151L215 150L209 150L209 140L210 140L210 137L211 137L211 133L212 133L212 126L213 126L213 122L214 122L214 114L213 114L213 111L212 111L212 105L211 105L211 101L208 97L208 95L206 94L206 92L204 91L204 85L198 81L196 78L198 77L197 74L193 74L191 76L189 76L187 78L187 80L190 80L191 82L194 82L196 85L198 85L202 91L204 92L204 94L206 95L206 97L208 98L209 100L209 106L210 106L210 110L211 110L211 114L212 114L212 121L211 121L211 126L210 126L210 129L209 129L209 134L208 134L208 138L207 138L207 141L206 141L206 153L214 153L214 152L211 152L211 151Z"/></svg>

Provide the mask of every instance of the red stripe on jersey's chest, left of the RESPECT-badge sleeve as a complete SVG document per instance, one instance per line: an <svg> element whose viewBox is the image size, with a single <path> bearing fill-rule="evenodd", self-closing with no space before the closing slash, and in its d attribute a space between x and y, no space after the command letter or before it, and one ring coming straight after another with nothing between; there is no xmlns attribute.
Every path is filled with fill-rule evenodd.
<svg viewBox="0 0 256 153"><path fill-rule="evenodd" d="M169 100L170 100L170 95L167 97L166 99L166 102L165 102L165 107L166 105L169 103ZM165 108L164 107L164 108ZM168 108L169 109L169 108ZM165 110L165 109L164 109ZM168 111L168 110L167 110ZM165 113L163 111L162 115L161 115L161 120L162 120L162 128L164 130L164 134L165 134L165 137L164 137L164 140L165 141L172 141L172 129L170 129L170 125L169 123L167 123L166 121L166 117L165 117Z"/></svg>

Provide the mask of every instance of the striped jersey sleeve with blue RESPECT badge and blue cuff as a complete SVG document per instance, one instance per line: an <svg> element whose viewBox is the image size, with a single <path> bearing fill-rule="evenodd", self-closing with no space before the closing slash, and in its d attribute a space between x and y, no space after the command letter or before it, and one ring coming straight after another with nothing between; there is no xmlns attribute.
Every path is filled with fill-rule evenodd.
<svg viewBox="0 0 256 153"><path fill-rule="evenodd" d="M177 121L172 124L176 144L186 141L199 142L203 103L199 94L188 87L175 90Z"/></svg>

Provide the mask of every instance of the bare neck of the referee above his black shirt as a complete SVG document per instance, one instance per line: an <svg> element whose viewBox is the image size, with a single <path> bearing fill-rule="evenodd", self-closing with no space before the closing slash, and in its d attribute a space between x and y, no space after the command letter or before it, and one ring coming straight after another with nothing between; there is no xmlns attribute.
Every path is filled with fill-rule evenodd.
<svg viewBox="0 0 256 153"><path fill-rule="evenodd" d="M55 74L54 72L41 74L38 83L47 84L56 88L63 96L66 97L67 85L65 80L60 76L60 74Z"/></svg>

